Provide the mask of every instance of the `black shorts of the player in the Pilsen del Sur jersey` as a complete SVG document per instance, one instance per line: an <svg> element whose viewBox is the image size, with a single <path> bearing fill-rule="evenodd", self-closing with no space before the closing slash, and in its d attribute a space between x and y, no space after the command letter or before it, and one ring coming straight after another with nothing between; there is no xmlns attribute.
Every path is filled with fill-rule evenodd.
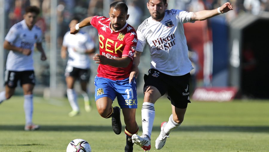
<svg viewBox="0 0 269 152"><path fill-rule="evenodd" d="M144 75L146 86L156 87L161 95L167 93L171 104L177 108L187 108L189 100L189 78L190 73L182 76L166 75L156 69L149 69L149 75Z"/></svg>

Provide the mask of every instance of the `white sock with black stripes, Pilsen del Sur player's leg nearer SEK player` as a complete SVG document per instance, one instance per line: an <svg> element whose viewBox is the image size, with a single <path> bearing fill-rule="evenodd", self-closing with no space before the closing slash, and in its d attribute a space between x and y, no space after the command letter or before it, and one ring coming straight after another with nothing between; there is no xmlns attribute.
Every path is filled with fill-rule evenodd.
<svg viewBox="0 0 269 152"><path fill-rule="evenodd" d="M142 130L143 135L151 138L152 126L155 118L155 109L153 103L144 102L142 105Z"/></svg>

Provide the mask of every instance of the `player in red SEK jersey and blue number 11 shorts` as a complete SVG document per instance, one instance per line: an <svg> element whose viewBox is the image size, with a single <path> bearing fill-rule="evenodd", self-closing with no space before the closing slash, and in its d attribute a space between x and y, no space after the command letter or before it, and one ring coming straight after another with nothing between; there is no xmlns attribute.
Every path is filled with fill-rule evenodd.
<svg viewBox="0 0 269 152"><path fill-rule="evenodd" d="M120 108L122 108L126 124L125 152L133 151L132 135L137 134L135 121L137 108L136 82L129 83L133 57L137 44L136 31L126 23L129 18L128 7L123 2L110 4L109 18L91 16L71 28L71 34L76 34L80 28L92 25L98 30L100 54L93 59L98 63L95 76L95 102L101 117L112 117L112 128L115 134L120 134ZM117 97L120 108L112 107Z"/></svg>

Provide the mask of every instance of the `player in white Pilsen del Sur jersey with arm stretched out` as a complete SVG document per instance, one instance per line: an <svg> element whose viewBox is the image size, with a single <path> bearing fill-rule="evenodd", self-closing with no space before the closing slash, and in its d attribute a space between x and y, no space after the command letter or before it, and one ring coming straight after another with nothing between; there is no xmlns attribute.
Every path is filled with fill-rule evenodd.
<svg viewBox="0 0 269 152"><path fill-rule="evenodd" d="M167 92L171 101L172 114L168 122L161 123L161 133L155 141L155 148L161 149L169 133L178 128L184 119L189 101L189 77L193 69L188 58L187 41L183 23L203 21L221 13L233 10L227 2L214 10L186 12L183 10L166 10L166 0L148 0L147 8L150 17L143 21L137 29L137 46L133 61L133 72L129 80L138 75L138 64L144 46L147 44L151 56L151 69L145 75L144 103L142 105L143 135L134 134L132 141L150 150L152 125L155 117L154 104Z"/></svg>

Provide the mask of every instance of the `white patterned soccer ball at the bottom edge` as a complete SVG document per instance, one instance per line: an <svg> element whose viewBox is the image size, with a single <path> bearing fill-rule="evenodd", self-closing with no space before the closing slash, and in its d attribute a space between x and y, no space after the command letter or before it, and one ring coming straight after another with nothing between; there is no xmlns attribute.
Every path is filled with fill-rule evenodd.
<svg viewBox="0 0 269 152"><path fill-rule="evenodd" d="M91 146L86 140L74 139L69 142L66 152L91 152Z"/></svg>

